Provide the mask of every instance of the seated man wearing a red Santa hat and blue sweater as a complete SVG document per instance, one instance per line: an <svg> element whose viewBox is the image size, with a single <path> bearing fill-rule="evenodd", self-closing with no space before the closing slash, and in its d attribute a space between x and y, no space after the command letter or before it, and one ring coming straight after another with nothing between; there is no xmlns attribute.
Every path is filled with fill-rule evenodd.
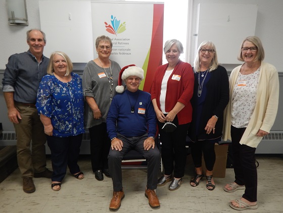
<svg viewBox="0 0 283 213"><path fill-rule="evenodd" d="M109 172L113 181L113 198L109 208L117 210L124 198L121 162L131 149L143 154L148 161L148 181L145 196L152 208L160 206L155 193L157 188L160 152L155 147L156 114L148 92L138 89L144 79L144 70L135 65L122 68L118 92L110 105L106 119L107 132L111 139L108 155ZM125 81L126 89L122 85Z"/></svg>

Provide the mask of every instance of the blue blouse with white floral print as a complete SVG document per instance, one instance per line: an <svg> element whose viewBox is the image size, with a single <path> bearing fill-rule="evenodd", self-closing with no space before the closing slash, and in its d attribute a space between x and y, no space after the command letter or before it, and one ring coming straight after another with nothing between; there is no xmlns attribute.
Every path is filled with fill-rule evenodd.
<svg viewBox="0 0 283 213"><path fill-rule="evenodd" d="M37 111L51 118L53 135L57 137L84 132L81 78L75 73L71 73L71 77L70 82L64 83L54 75L45 75L37 91Z"/></svg>

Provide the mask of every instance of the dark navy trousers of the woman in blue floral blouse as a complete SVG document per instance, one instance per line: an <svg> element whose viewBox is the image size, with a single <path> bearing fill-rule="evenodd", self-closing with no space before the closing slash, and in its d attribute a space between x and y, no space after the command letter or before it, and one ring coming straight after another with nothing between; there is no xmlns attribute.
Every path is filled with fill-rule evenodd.
<svg viewBox="0 0 283 213"><path fill-rule="evenodd" d="M71 174L80 172L78 157L81 140L82 134L69 137L47 136L47 143L51 150L52 181L62 182L67 166Z"/></svg>

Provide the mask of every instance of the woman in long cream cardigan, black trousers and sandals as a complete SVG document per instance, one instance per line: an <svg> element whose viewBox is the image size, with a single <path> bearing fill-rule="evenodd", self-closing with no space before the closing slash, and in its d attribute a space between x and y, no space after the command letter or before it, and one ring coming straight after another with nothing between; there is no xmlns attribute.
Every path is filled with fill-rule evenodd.
<svg viewBox="0 0 283 213"><path fill-rule="evenodd" d="M258 207L255 151L276 118L279 80L276 68L262 62L264 49L258 37L244 39L238 59L245 63L231 72L223 128L223 139L232 141L235 180L223 189L245 189L241 198L229 203L232 208L243 210Z"/></svg>

